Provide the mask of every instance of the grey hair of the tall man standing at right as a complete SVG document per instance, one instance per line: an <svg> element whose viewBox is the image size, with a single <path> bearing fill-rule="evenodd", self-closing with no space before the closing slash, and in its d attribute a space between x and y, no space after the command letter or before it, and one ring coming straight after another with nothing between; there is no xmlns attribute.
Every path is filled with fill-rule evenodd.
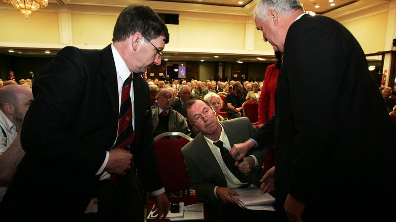
<svg viewBox="0 0 396 222"><path fill-rule="evenodd" d="M254 8L254 18L258 17L260 20L267 19L268 8L274 9L277 13L298 9L303 10L299 0L259 0Z"/></svg>

